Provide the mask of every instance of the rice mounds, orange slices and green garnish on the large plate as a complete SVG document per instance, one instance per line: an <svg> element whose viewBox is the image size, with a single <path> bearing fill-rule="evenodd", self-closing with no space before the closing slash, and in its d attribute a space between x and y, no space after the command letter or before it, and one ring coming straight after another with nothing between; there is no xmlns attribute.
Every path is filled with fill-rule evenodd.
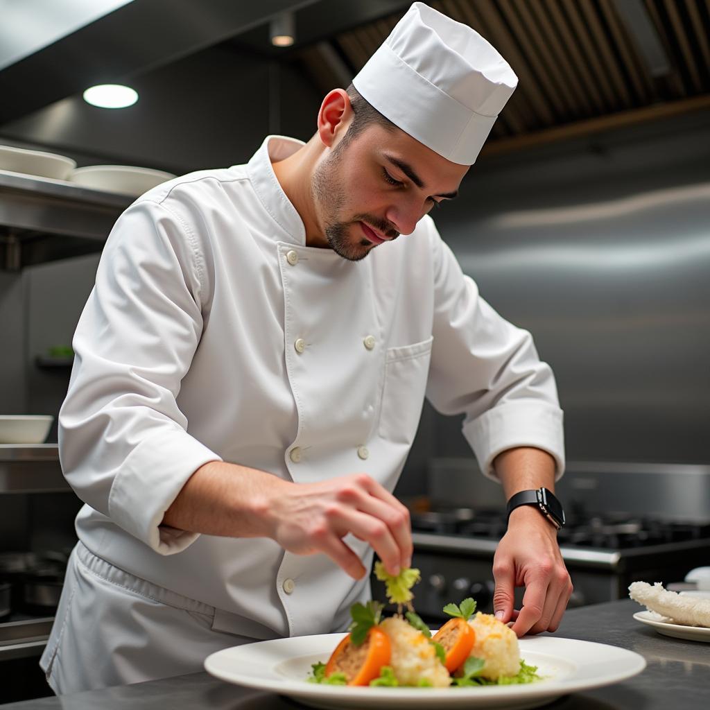
<svg viewBox="0 0 710 710"><path fill-rule="evenodd" d="M537 667L520 659L518 637L491 614L475 613L474 599L449 603L451 618L432 637L411 604L411 587L419 571L406 569L396 577L376 563L388 599L398 612L382 618L376 601L351 608L350 633L327 662L312 665L310 682L373 687L479 686L522 684L541 680ZM404 609L407 611L404 611ZM474 615L475 614L475 615Z"/></svg>

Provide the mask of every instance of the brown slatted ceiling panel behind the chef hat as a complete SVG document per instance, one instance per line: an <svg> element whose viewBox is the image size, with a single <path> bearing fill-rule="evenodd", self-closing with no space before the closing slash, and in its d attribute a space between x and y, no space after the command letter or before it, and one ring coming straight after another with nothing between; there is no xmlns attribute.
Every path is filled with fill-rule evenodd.
<svg viewBox="0 0 710 710"><path fill-rule="evenodd" d="M431 0L501 51L520 83L491 142L710 94L710 0L641 0L672 72L652 77L618 11L627 0ZM358 72L403 16L332 38ZM303 64L317 73L319 62ZM321 61L322 64L322 61ZM318 86L327 84L322 72Z"/></svg>

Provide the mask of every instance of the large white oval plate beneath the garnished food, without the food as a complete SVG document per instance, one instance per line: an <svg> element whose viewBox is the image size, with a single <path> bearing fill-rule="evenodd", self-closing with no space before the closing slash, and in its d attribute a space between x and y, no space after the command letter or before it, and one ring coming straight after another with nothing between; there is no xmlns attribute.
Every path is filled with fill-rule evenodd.
<svg viewBox="0 0 710 710"><path fill-rule="evenodd" d="M624 648L570 638L520 640L520 655L545 679L525 685L472 688L355 688L307 682L311 665L325 662L343 633L279 638L225 648L204 668L217 678L286 695L316 708L534 708L579 690L617 683L640 673L643 656Z"/></svg>

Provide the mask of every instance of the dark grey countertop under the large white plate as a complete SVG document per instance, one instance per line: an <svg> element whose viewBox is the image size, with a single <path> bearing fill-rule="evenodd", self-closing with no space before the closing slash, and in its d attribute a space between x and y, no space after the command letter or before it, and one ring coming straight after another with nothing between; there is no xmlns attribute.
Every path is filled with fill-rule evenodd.
<svg viewBox="0 0 710 710"><path fill-rule="evenodd" d="M608 643L645 657L645 670L621 683L574 693L548 710L697 710L708 699L709 647L668 638L633 619L640 606L612 601L568 611L558 636ZM215 710L293 710L302 705L268 692L231 685L207 673L193 673L146 683L10 703L3 710L147 710L170 707Z"/></svg>

